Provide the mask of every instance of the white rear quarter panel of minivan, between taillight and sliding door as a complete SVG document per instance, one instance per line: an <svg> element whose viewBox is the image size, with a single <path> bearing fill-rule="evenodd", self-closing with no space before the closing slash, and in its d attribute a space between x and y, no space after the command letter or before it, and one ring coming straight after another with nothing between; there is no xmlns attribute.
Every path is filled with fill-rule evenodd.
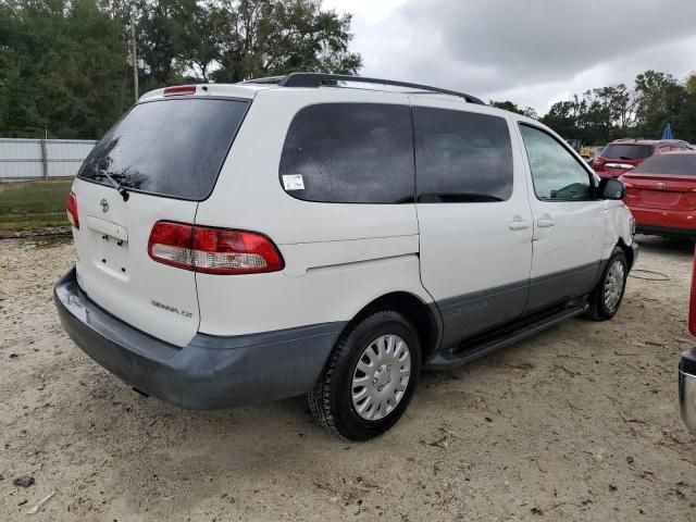
<svg viewBox="0 0 696 522"><path fill-rule="evenodd" d="M414 204L308 202L281 186L278 165L295 114L314 103L351 101L408 104L401 94L348 89L257 95L196 222L268 235L285 269L241 276L197 274L201 332L240 335L348 321L391 291L432 301L420 282Z"/></svg>

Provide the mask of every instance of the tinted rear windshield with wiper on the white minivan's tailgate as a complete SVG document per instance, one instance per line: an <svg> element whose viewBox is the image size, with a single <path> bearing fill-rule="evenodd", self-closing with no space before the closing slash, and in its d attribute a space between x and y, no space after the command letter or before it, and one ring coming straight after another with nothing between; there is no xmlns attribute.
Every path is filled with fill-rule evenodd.
<svg viewBox="0 0 696 522"><path fill-rule="evenodd" d="M77 174L110 185L201 201L210 196L249 103L177 99L140 103L97 144Z"/></svg>

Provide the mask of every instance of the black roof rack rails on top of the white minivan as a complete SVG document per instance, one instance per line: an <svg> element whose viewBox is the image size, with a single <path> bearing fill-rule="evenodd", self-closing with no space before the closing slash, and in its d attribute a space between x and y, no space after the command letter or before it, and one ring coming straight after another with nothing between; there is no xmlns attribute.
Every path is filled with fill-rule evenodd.
<svg viewBox="0 0 696 522"><path fill-rule="evenodd" d="M475 96L467 95L464 92L457 92L455 90L440 89L439 87L432 87L430 85L411 84L408 82L397 82L393 79L382 78L368 78L364 76L350 76L347 74L328 74L328 73L290 73L286 76L270 76L266 78L253 78L243 82L243 84L277 84L279 87L321 87L328 83L334 82L351 82L355 84L373 84L373 85L389 85L394 87L406 87L409 89L415 89L417 94L440 94L457 96L463 98L469 103L476 103L478 105L485 105L485 103Z"/></svg>

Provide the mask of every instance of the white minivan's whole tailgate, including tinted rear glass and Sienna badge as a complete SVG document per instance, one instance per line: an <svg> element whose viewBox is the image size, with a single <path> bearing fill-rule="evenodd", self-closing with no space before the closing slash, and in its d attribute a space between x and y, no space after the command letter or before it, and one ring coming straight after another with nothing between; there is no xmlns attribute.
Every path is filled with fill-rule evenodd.
<svg viewBox="0 0 696 522"><path fill-rule="evenodd" d="M202 97L139 103L99 141L73 185L79 286L113 315L177 346L198 330L195 273L153 261L150 232L158 221L195 222L248 107Z"/></svg>

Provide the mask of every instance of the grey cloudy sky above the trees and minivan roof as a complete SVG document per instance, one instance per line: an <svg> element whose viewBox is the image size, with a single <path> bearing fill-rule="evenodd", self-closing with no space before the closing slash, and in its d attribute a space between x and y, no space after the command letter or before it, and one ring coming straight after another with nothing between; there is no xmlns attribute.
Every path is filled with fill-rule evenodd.
<svg viewBox="0 0 696 522"><path fill-rule="evenodd" d="M353 14L360 74L426 83L544 114L654 69L696 71L696 0L324 0Z"/></svg>

